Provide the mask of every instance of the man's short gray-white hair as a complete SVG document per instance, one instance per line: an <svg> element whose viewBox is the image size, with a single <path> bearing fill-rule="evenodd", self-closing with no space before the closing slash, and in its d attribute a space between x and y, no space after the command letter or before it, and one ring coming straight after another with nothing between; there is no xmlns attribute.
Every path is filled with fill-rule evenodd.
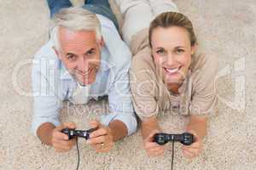
<svg viewBox="0 0 256 170"><path fill-rule="evenodd" d="M60 27L67 28L70 31L95 31L96 39L101 40L102 38L100 20L98 20L96 14L81 7L61 9L59 13L55 14L53 22L54 26L50 31L50 37L53 38L57 50L61 50Z"/></svg>

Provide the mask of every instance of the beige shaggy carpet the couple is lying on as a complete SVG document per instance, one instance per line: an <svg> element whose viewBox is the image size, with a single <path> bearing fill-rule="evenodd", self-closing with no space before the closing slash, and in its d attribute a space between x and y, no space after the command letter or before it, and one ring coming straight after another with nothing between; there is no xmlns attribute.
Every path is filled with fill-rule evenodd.
<svg viewBox="0 0 256 170"><path fill-rule="evenodd" d="M253 170L256 168L256 2L175 2L193 20L207 54L220 60L217 79L220 103L218 116L210 121L203 154L189 161L182 155L181 144L176 144L174 169ZM0 23L0 169L75 169L75 148L65 154L56 153L30 133L32 97L25 94L31 91L33 54L48 39L49 10L45 1L1 1ZM88 118L108 109L106 101L91 102L90 107L66 105L66 108L69 110L61 112L61 120L76 122L80 128L88 127ZM166 132L183 132L186 121L178 116L160 117ZM171 144L164 157L148 158L139 132L117 143L108 154L96 154L82 140L79 145L80 169L171 168Z"/></svg>

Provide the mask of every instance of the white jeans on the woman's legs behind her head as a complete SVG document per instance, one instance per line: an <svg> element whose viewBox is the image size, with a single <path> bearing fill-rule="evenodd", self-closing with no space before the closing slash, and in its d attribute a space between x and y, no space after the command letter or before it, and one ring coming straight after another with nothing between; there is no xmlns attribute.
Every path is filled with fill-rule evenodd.
<svg viewBox="0 0 256 170"><path fill-rule="evenodd" d="M123 38L130 45L131 37L138 31L148 28L151 20L158 14L178 12L172 0L115 0L124 16Z"/></svg>

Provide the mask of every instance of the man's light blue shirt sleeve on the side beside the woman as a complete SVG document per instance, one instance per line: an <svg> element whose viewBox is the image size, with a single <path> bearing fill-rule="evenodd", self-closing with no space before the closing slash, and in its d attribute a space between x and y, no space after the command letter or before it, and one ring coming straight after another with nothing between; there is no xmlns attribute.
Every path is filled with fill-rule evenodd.
<svg viewBox="0 0 256 170"><path fill-rule="evenodd" d="M137 131L137 118L131 102L129 85L129 69L131 66L131 51L119 36L118 31L104 17L99 17L102 23L102 36L113 64L110 70L111 83L108 87L108 102L111 113L102 116L102 122L108 126L109 122L119 120L125 123L128 135Z"/></svg>

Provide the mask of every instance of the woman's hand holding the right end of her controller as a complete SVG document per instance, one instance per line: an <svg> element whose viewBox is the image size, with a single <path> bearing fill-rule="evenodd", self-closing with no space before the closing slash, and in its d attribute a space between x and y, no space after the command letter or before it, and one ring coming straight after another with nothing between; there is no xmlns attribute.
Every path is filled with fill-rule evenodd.
<svg viewBox="0 0 256 170"><path fill-rule="evenodd" d="M183 145L182 150L185 157L193 159L201 154L201 151L203 150L203 142L202 139L195 133L195 131L191 130L189 133L194 135L195 142L188 146Z"/></svg>

